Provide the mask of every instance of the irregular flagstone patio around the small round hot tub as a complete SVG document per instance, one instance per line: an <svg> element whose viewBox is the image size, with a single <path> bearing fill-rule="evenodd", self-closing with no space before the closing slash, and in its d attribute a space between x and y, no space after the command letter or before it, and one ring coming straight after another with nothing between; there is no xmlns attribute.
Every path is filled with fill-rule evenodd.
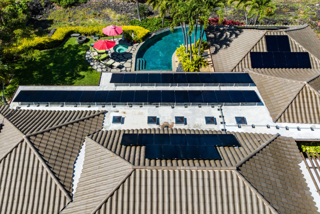
<svg viewBox="0 0 320 214"><path fill-rule="evenodd" d="M111 39L112 40L112 39ZM118 68L110 68L102 63L100 61L95 60L90 55L91 51L90 49L86 51L85 53L85 60L90 64L90 66L98 71L98 72L130 72L132 68L132 55L137 51L137 47L139 43L134 44L133 42L124 42L121 41L121 38L116 38L116 45L118 44L125 44L128 46L128 50L123 53L117 53L113 50L113 48L110 48L107 50L108 58L105 60L106 62L109 59L113 59L116 62L119 62L120 65Z"/></svg>

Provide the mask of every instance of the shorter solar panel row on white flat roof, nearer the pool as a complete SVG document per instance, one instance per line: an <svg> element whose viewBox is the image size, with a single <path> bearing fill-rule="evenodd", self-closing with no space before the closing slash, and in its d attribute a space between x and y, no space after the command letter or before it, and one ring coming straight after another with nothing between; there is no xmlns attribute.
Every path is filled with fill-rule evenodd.
<svg viewBox="0 0 320 214"><path fill-rule="evenodd" d="M248 73L112 73L110 83L253 83Z"/></svg>

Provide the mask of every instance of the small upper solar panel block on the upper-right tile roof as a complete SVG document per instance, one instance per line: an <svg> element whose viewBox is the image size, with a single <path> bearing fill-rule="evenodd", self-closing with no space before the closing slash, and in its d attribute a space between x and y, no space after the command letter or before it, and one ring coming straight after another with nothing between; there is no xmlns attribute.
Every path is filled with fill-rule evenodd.
<svg viewBox="0 0 320 214"><path fill-rule="evenodd" d="M268 52L286 51L290 52L289 37L286 35L266 35L266 44Z"/></svg>

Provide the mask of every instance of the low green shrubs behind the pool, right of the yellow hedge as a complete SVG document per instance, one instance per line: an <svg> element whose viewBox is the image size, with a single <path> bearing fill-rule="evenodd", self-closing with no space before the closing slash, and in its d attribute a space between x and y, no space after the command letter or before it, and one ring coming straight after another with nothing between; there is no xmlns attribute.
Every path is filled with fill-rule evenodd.
<svg viewBox="0 0 320 214"><path fill-rule="evenodd" d="M170 27L171 21L165 19L164 25L162 25L162 18L145 18L139 21L138 19L132 19L129 21L129 25L136 25L150 30L150 32Z"/></svg>

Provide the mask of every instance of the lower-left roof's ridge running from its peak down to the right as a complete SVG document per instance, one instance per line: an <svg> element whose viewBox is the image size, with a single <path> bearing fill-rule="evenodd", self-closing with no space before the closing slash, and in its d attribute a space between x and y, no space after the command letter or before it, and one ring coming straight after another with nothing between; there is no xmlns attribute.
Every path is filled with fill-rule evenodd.
<svg viewBox="0 0 320 214"><path fill-rule="evenodd" d="M61 190L61 192L64 194L64 196L69 200L72 201L71 196L69 195L69 192L63 187L63 185L60 183L59 179L56 177L54 172L50 169L50 167L47 165L46 161L41 157L39 152L36 150L36 148L33 146L33 144L30 142L27 136L23 136L24 141L27 143L27 145L30 147L30 149L33 151L36 158L38 158L39 162L42 164L42 166L46 169L50 177L52 178L53 182L58 186L58 188Z"/></svg>

